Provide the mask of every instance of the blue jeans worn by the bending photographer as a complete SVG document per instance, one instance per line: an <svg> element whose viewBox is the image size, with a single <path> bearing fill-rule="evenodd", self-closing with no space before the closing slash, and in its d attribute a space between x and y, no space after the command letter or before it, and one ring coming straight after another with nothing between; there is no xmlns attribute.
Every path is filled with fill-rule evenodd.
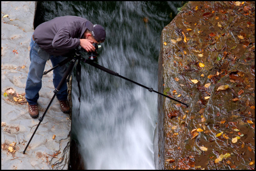
<svg viewBox="0 0 256 171"><path fill-rule="evenodd" d="M26 82L26 99L29 105L36 105L39 98L39 90L42 88L42 77L46 60L40 58L34 47L38 47L38 44L31 37L29 57L31 64L29 66L28 78ZM65 58L62 56L50 56L52 66L58 65ZM53 85L55 89L58 87L67 67L66 65L58 66L53 70ZM57 93L56 97L58 100L67 100L68 93L67 83L64 83Z"/></svg>

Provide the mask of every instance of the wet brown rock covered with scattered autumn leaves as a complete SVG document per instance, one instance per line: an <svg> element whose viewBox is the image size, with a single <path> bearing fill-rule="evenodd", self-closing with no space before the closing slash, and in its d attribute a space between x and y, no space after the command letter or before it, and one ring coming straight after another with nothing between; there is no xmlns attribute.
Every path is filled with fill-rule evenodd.
<svg viewBox="0 0 256 171"><path fill-rule="evenodd" d="M161 35L159 169L255 169L254 2L189 2Z"/></svg>

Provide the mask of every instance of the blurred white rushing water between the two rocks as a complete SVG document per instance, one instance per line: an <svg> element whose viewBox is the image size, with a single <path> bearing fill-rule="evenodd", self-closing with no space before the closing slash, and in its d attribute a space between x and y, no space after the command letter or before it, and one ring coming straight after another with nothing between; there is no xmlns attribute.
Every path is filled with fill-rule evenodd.
<svg viewBox="0 0 256 171"><path fill-rule="evenodd" d="M157 90L160 35L182 2L42 2L41 19L77 15L100 24L98 64ZM42 22L38 20L38 22ZM36 24L36 23L35 23ZM72 135L86 169L155 169L157 95L83 64L81 107L73 78Z"/></svg>

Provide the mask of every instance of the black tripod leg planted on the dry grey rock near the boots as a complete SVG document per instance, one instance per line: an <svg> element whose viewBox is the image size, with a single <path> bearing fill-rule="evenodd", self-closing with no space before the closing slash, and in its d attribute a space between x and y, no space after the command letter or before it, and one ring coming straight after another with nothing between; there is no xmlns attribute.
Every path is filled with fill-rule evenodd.
<svg viewBox="0 0 256 171"><path fill-rule="evenodd" d="M23 154L26 153L26 150L27 150L27 148L28 148L28 145L30 144L30 142L31 142L31 140L32 140L32 138L33 138L33 136L35 135L36 130L37 130L37 128L39 127L40 123L43 121L44 116L45 116L46 112L48 111L49 107L51 106L53 99L54 99L55 96L57 95L57 93L58 93L58 91L60 90L61 86L62 86L64 83L66 83L66 79L67 79L68 75L72 72L73 67L74 67L74 65L75 65L75 62L76 62L75 59L73 59L73 60L71 61L71 64L69 65L67 71L66 71L65 74L63 75L63 77L62 77L62 79L61 79L61 81L60 81L58 87L53 91L53 92L54 92L54 95L53 95L53 97L52 97L52 99L51 99L49 105L47 106L46 110L44 111L43 116L38 119L38 120L39 120L39 123L38 123L38 125L37 125L37 127L36 127L34 133L32 134L30 140L28 141L28 144L27 144L25 150L23 151Z"/></svg>

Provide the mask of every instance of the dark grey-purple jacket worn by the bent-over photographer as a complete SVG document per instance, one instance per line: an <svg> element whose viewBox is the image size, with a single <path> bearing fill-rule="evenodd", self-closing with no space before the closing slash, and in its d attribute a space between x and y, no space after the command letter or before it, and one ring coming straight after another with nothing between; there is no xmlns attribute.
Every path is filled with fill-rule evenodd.
<svg viewBox="0 0 256 171"><path fill-rule="evenodd" d="M79 39L87 29L86 22L90 21L77 16L56 17L36 27L35 41L51 55L64 55L80 45Z"/></svg>

